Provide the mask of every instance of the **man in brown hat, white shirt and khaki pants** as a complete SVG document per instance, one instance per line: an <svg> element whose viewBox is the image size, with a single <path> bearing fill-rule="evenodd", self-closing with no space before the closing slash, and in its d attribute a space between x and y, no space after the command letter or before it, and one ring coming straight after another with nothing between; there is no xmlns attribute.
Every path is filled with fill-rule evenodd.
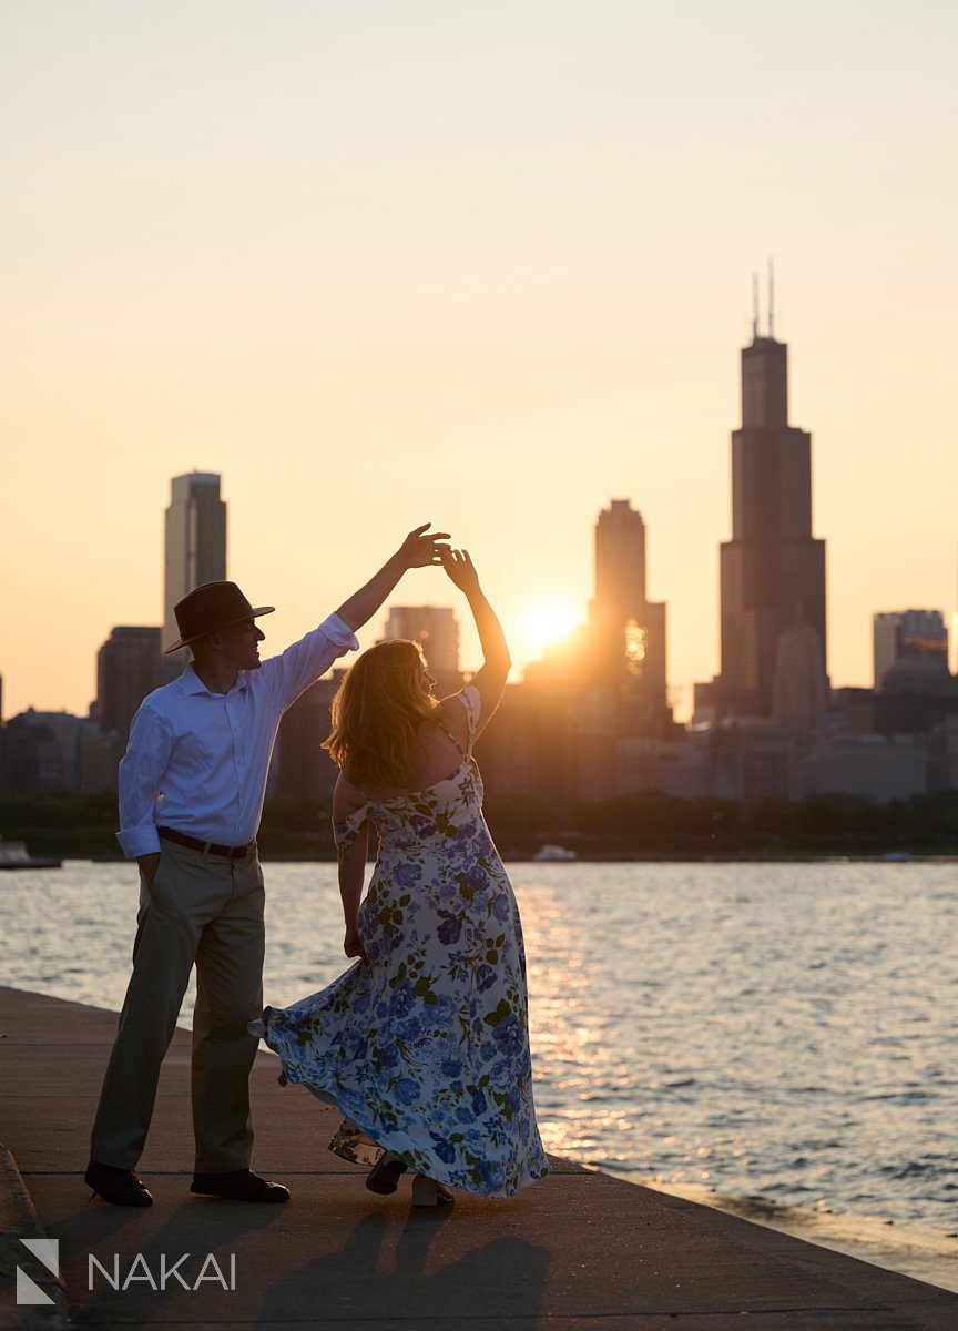
<svg viewBox="0 0 958 1331"><path fill-rule="evenodd" d="M253 607L236 583L206 583L176 606L193 660L133 717L120 764L120 845L140 865L133 974L100 1094L86 1183L117 1206L153 1201L134 1173L164 1054L193 962L192 1193L285 1202L289 1191L250 1171L247 1022L262 1013L263 877L255 835L279 719L337 656L407 568L440 562L430 524L301 642L259 660Z"/></svg>

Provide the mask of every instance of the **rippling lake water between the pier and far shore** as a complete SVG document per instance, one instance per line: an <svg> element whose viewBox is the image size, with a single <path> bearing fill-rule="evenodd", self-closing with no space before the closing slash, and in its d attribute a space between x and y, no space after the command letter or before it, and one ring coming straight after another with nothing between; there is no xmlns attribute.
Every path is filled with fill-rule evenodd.
<svg viewBox="0 0 958 1331"><path fill-rule="evenodd" d="M958 866L508 868L547 1150L958 1288ZM286 1006L347 965L335 865L265 873ZM118 1009L137 893L0 874L0 981Z"/></svg>

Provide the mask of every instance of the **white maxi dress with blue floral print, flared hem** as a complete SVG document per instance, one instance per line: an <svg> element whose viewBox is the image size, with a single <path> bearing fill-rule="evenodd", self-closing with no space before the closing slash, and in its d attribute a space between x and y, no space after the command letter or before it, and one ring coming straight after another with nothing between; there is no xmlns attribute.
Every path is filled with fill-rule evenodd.
<svg viewBox="0 0 958 1331"><path fill-rule="evenodd" d="M390 1150L436 1182L511 1197L548 1173L532 1103L526 956L512 886L482 813L472 759L479 691L456 695L468 743L452 776L370 800L334 825L345 848L379 836L359 908L367 960L250 1024L346 1115L330 1150ZM460 749L462 752L462 749Z"/></svg>

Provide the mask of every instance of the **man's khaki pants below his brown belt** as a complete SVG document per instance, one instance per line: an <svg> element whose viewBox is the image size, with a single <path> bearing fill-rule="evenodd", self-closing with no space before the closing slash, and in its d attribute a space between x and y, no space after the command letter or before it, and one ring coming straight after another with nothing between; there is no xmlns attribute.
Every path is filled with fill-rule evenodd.
<svg viewBox="0 0 958 1331"><path fill-rule="evenodd" d="M141 878L126 989L90 1155L136 1169L164 1054L196 961L193 1134L198 1174L247 1169L253 1157L249 1074L262 1013L263 877L255 852L225 860L162 840L152 889Z"/></svg>

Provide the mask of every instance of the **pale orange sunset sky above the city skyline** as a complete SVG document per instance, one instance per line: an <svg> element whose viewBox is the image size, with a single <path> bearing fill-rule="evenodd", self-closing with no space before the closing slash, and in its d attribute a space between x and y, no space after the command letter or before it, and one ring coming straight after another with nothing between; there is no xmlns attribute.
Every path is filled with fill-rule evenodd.
<svg viewBox="0 0 958 1331"><path fill-rule="evenodd" d="M109 630L160 622L193 467L277 648L432 519L522 662L631 498L688 697L769 252L833 681L870 684L873 611L955 606L951 5L0 16L7 716L85 712ZM455 594L427 570L397 600Z"/></svg>

